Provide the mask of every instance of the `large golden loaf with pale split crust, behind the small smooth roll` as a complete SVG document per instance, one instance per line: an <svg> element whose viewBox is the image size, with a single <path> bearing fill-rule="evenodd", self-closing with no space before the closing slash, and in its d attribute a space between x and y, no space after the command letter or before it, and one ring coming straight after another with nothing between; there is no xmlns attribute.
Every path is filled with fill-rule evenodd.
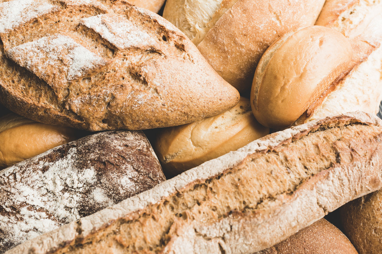
<svg viewBox="0 0 382 254"><path fill-rule="evenodd" d="M324 2L167 0L163 17L193 39L223 79L248 96L265 50L283 34L314 25Z"/></svg>

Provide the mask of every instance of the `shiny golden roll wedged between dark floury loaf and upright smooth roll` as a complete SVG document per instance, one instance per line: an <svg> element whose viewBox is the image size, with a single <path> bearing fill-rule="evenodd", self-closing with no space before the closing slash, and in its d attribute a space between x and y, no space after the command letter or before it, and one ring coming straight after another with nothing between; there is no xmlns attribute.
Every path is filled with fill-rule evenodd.
<svg viewBox="0 0 382 254"><path fill-rule="evenodd" d="M249 100L242 97L222 114L160 130L153 146L163 171L173 177L267 134L269 129L256 121Z"/></svg>

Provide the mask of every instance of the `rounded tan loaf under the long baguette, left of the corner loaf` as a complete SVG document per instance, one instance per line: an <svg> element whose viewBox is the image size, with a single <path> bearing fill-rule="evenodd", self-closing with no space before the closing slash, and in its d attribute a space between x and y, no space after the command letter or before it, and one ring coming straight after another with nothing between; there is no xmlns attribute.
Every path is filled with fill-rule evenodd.
<svg viewBox="0 0 382 254"><path fill-rule="evenodd" d="M320 219L295 235L256 254L358 254L349 239L332 223Z"/></svg>

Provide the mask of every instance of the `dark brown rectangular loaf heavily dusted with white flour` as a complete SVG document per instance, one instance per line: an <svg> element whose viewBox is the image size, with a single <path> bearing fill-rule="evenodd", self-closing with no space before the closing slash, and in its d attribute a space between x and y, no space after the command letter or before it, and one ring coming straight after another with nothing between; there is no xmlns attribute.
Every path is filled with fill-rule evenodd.
<svg viewBox="0 0 382 254"><path fill-rule="evenodd" d="M141 132L97 133L0 171L0 253L165 180Z"/></svg>

